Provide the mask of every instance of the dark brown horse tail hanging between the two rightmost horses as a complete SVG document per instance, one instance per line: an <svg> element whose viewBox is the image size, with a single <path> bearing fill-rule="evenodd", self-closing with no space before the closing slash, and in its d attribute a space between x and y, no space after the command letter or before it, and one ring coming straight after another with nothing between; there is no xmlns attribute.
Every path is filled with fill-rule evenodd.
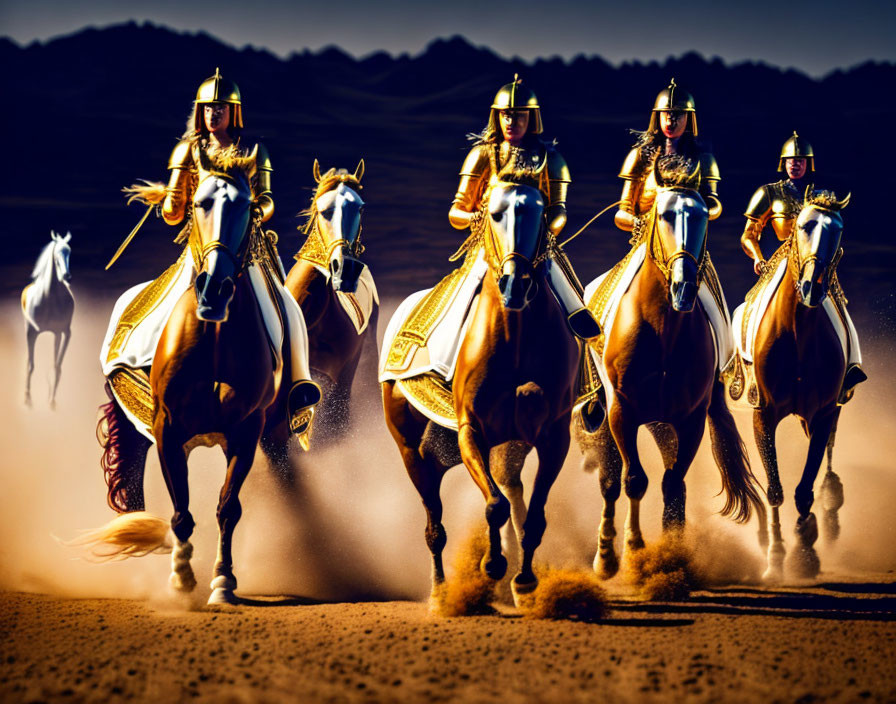
<svg viewBox="0 0 896 704"><path fill-rule="evenodd" d="M764 519L765 504L756 490L747 448L725 403L725 386L719 378L713 382L709 402L709 435L712 454L722 474L722 491L727 497L722 515L746 523L755 509Z"/></svg>

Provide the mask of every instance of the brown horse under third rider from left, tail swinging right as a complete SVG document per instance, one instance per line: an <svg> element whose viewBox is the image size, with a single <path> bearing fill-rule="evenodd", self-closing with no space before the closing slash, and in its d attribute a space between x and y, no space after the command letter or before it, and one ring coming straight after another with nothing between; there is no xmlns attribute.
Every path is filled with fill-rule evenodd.
<svg viewBox="0 0 896 704"><path fill-rule="evenodd" d="M586 466L596 465L600 473L604 509L594 569L604 578L619 569L615 515L621 486L629 499L625 547L644 546L639 510L648 478L637 447L642 425L654 435L665 467L664 530L684 526L685 475L707 417L727 495L722 513L746 521L753 507L763 508L717 375L707 309L716 305L720 311L724 304L707 300L708 291L700 290L701 285L708 288L703 278L714 275L706 254L707 219L706 205L696 191L660 189L645 219L645 239L619 265L624 268L632 258L637 265L643 258L613 320L605 319L609 329L597 367L606 394L606 417L596 432L579 434ZM609 281L614 279L618 280L608 276ZM604 312L594 310L598 316Z"/></svg>

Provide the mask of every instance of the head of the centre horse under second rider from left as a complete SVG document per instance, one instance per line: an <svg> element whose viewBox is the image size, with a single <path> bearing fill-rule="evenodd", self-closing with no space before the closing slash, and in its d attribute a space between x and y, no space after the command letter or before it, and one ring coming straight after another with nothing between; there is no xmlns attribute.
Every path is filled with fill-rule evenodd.
<svg viewBox="0 0 896 704"><path fill-rule="evenodd" d="M538 292L533 261L544 240L544 197L537 188L500 182L488 199L485 245L509 310L522 310Z"/></svg>

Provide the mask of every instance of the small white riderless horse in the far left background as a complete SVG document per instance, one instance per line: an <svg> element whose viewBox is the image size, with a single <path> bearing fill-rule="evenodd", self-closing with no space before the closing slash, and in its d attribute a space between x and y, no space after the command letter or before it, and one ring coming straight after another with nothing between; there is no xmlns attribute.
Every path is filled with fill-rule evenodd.
<svg viewBox="0 0 896 704"><path fill-rule="evenodd" d="M69 257L72 248L69 241L72 233L65 237L51 231L52 239L44 247L34 271L31 283L22 291L22 314L25 316L25 335L28 338L28 372L25 376L25 405L31 405L31 373L34 371L34 342L42 332L55 335L53 364L55 378L50 391L50 408L56 408L56 389L62 374L62 359L71 339L72 315L75 312L75 297L70 282Z"/></svg>

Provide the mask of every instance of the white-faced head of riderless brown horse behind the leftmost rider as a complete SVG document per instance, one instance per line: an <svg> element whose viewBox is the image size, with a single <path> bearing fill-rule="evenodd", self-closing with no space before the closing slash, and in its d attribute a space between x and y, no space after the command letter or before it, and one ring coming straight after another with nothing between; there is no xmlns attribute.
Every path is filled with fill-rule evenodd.
<svg viewBox="0 0 896 704"><path fill-rule="evenodd" d="M317 229L327 248L327 267L334 291L354 293L364 270L364 262L358 258L362 251L361 211L364 208L358 191L363 175L363 159L354 173L330 169L323 176L320 164L314 160L317 190L309 209L309 226Z"/></svg>

